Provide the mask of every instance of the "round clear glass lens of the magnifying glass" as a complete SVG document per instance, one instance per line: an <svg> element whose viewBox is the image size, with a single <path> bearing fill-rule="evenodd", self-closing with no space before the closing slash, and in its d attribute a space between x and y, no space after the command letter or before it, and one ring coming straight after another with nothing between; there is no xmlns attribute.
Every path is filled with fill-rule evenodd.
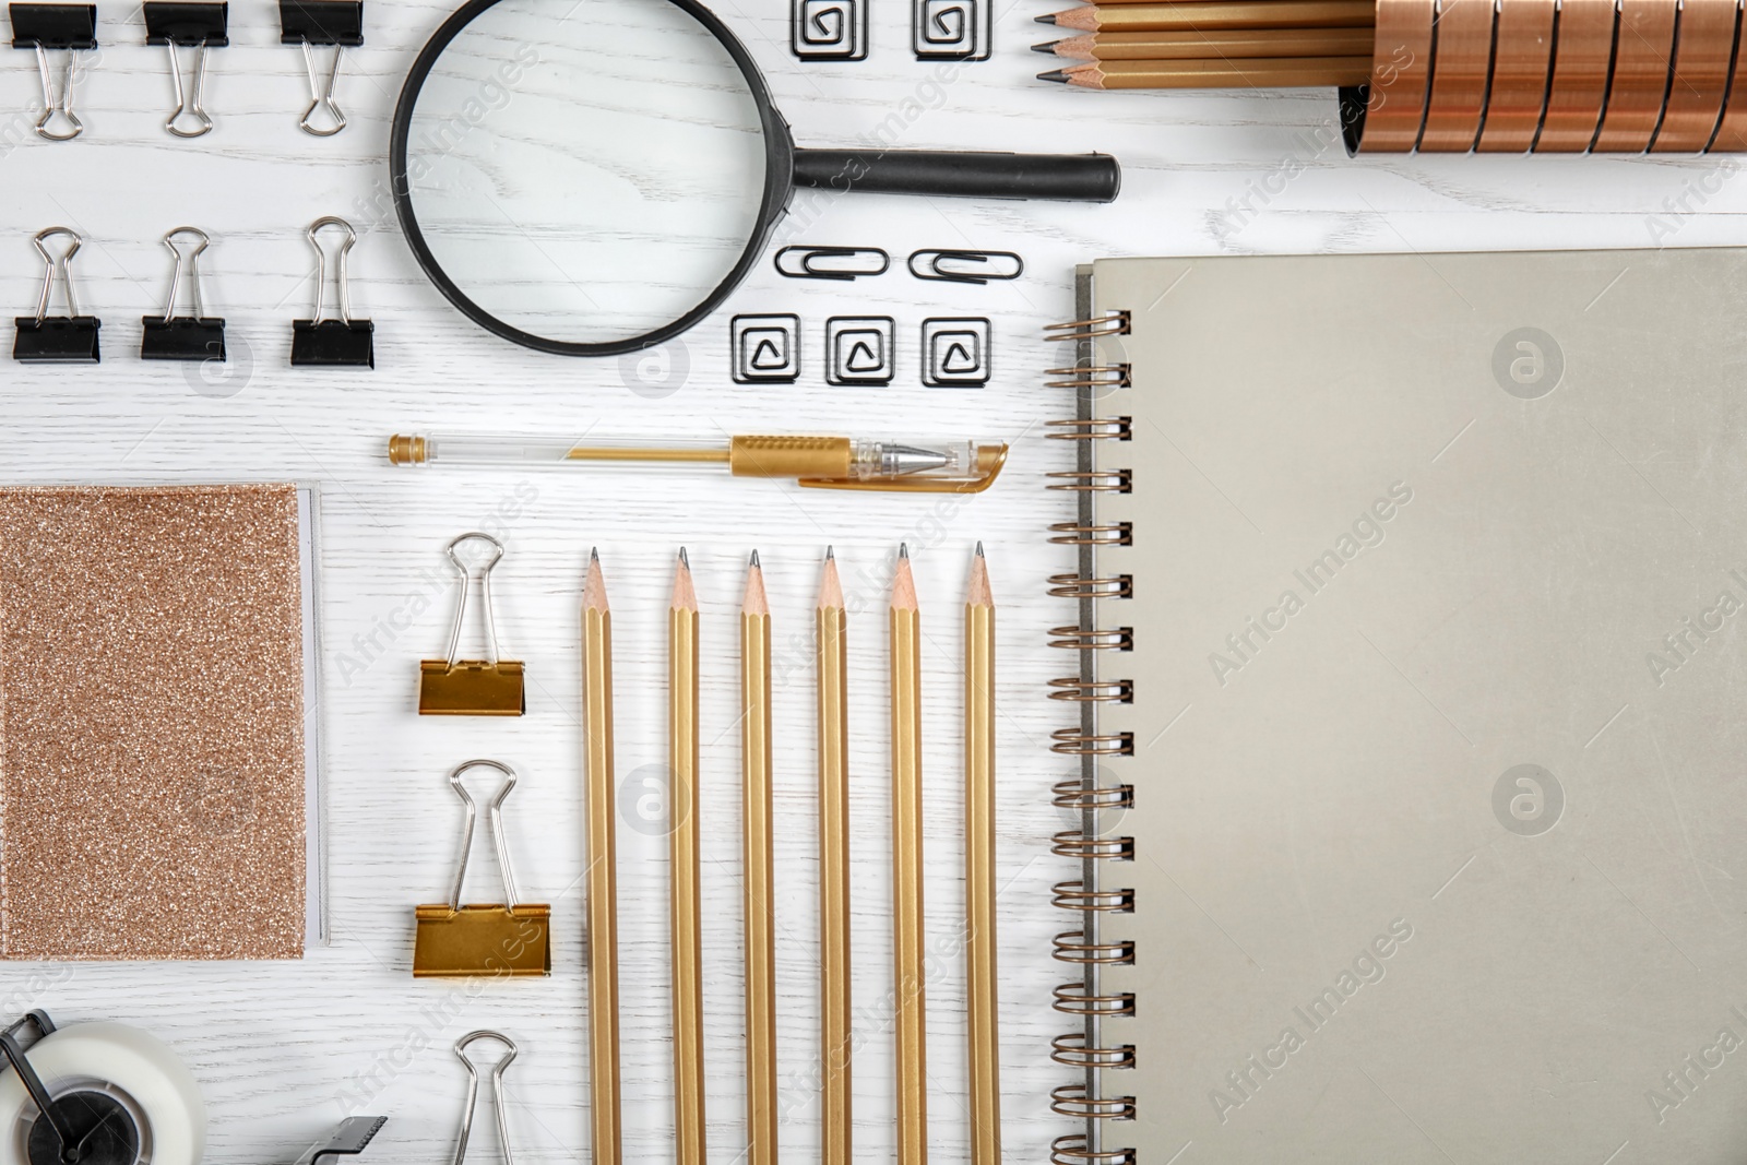
<svg viewBox="0 0 1747 1165"><path fill-rule="evenodd" d="M765 134L746 75L680 5L498 0L419 87L405 182L451 299L615 344L734 274L762 229Z"/></svg>

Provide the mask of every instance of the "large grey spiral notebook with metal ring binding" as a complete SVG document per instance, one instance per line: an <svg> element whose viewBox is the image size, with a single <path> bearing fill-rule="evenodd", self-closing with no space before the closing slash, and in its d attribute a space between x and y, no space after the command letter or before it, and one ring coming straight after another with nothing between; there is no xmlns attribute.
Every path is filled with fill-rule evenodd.
<svg viewBox="0 0 1747 1165"><path fill-rule="evenodd" d="M1744 1160L1747 252L1078 314L1055 1160Z"/></svg>

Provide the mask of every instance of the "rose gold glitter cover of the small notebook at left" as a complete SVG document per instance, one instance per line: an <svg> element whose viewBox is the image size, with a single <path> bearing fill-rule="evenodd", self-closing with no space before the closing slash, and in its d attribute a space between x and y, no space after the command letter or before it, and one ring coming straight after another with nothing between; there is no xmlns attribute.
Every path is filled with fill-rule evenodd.
<svg viewBox="0 0 1747 1165"><path fill-rule="evenodd" d="M297 959L292 486L0 489L0 955Z"/></svg>

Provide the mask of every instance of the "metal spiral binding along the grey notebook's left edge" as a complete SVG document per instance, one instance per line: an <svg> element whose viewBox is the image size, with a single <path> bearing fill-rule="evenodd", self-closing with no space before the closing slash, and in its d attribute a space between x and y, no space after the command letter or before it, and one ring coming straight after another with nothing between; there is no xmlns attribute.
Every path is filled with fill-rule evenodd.
<svg viewBox="0 0 1747 1165"><path fill-rule="evenodd" d="M1099 709L1108 704L1134 700L1134 681L1099 674L1101 658L1115 664L1120 657L1109 651L1134 650L1134 627L1101 627L1101 601L1134 597L1134 578L1097 569L1099 547L1134 545L1134 527L1129 522L1101 522L1094 501L1099 494L1130 493L1134 475L1127 468L1102 468L1094 459L1099 442L1125 442L1134 438L1134 421L1129 416L1094 416L1094 403L1106 395L1132 384L1127 363L1099 363L1094 341L1109 335L1127 335L1129 313L1118 311L1094 316L1090 311L1088 281L1080 285L1080 320L1046 328L1050 339L1074 342L1074 365L1050 369L1050 388L1074 391L1074 416L1052 421L1048 437L1074 442L1074 468L1048 475L1048 489L1071 493L1076 498L1073 522L1050 526L1050 541L1074 547L1078 569L1073 575L1053 575L1050 594L1073 599L1078 604L1078 622L1050 629L1050 646L1074 651L1080 669L1073 676L1050 681L1050 699L1078 709L1074 727L1057 728L1050 748L1055 753L1078 758L1078 777L1059 781L1052 789L1057 809L1078 821L1073 830L1062 830L1050 838L1050 852L1080 863L1080 877L1057 882L1050 903L1076 915L1078 927L1062 931L1052 941L1059 962L1069 964L1076 978L1055 987L1053 1008L1080 1022L1080 1031L1057 1036L1050 1058L1080 1072L1080 1079L1050 1093L1050 1109L1059 1116L1085 1123L1085 1130L1057 1137L1050 1144L1052 1165L1137 1165L1132 1148L1106 1141L1109 1121L1132 1121L1136 1099L1111 1095L1104 1072L1134 1067L1134 1046L1106 1041L1106 1018L1136 1013L1132 992L1113 992L1102 985L1102 969L1130 966L1134 943L1111 940L1102 933L1102 920L1134 912L1134 889L1106 886L1104 870L1111 861L1134 859L1132 837L1108 835L1109 812L1134 805L1134 786L1109 779L1102 762L1111 756L1132 756L1134 735L1099 728ZM1104 445L1109 449L1109 445Z"/></svg>

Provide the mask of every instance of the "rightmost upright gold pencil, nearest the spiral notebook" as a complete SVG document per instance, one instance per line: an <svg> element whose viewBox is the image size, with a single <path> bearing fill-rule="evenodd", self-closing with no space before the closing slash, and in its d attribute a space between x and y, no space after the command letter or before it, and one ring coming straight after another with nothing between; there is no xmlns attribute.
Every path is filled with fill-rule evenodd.
<svg viewBox="0 0 1747 1165"><path fill-rule="evenodd" d="M994 934L994 596L982 543L964 603L964 964L971 1165L1001 1162L1001 1039Z"/></svg>

